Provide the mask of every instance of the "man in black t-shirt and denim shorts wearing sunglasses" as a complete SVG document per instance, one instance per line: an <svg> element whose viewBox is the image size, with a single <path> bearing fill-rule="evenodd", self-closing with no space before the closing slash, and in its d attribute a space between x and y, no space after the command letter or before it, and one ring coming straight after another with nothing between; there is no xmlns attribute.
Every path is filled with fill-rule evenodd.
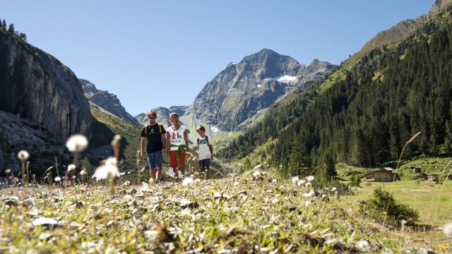
<svg viewBox="0 0 452 254"><path fill-rule="evenodd" d="M147 140L146 154L148 155L150 176L153 181L158 181L162 174L162 155L165 153L163 144L166 144L166 131L161 124L157 123L155 110L148 113L148 119L148 125L144 126L141 131L140 155L144 159L144 143Z"/></svg>

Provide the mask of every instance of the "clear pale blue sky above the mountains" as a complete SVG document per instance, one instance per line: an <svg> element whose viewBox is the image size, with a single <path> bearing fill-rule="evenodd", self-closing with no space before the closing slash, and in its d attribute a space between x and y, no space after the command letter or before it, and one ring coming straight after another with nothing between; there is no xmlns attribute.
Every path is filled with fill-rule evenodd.
<svg viewBox="0 0 452 254"><path fill-rule="evenodd" d="M0 18L136 115L190 104L227 63L263 48L338 64L433 2L14 0Z"/></svg>

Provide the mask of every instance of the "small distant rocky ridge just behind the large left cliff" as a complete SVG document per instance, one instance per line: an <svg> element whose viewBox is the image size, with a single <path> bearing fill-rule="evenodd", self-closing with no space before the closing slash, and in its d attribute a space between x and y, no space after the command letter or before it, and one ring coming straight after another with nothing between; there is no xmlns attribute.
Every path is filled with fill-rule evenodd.
<svg viewBox="0 0 452 254"><path fill-rule="evenodd" d="M117 95L109 93L108 91L98 90L97 87L88 80L80 79L80 82L82 84L85 97L89 99L90 102L93 102L98 107L105 109L120 119L124 119L125 121L136 125L139 124L137 119L127 113L126 109L124 109L121 105Z"/></svg>

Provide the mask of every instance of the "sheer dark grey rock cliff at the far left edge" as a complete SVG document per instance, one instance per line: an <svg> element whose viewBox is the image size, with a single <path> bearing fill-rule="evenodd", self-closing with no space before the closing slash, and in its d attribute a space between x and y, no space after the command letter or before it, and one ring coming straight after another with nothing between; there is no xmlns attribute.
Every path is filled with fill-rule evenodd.
<svg viewBox="0 0 452 254"><path fill-rule="evenodd" d="M0 110L47 128L60 142L73 133L91 135L90 106L76 75L53 56L3 31Z"/></svg>

